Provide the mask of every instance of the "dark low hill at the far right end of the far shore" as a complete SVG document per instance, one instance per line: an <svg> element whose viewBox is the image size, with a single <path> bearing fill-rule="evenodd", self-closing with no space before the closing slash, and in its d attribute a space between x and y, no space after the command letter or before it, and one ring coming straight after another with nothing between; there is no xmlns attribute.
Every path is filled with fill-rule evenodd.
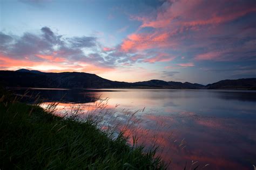
<svg viewBox="0 0 256 170"><path fill-rule="evenodd" d="M221 80L207 84L206 89L256 89L256 78Z"/></svg>

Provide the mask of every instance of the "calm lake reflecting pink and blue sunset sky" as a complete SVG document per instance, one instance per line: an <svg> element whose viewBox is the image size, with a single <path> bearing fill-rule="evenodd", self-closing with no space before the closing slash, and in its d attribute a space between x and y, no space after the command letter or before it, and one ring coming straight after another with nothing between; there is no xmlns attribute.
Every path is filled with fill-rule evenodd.
<svg viewBox="0 0 256 170"><path fill-rule="evenodd" d="M24 94L27 89L13 90ZM127 135L137 134L139 144L158 145L157 154L171 161L170 168L256 165L256 91L29 89L26 96L38 93L45 98L42 107L59 102L59 115L78 107L81 118L104 112L103 128L118 124Z"/></svg>

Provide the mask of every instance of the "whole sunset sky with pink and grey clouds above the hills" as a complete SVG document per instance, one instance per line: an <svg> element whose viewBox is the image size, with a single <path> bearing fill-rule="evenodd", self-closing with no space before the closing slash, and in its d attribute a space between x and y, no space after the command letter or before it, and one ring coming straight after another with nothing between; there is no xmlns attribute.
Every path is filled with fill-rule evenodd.
<svg viewBox="0 0 256 170"><path fill-rule="evenodd" d="M208 84L256 77L255 0L0 0L0 69Z"/></svg>

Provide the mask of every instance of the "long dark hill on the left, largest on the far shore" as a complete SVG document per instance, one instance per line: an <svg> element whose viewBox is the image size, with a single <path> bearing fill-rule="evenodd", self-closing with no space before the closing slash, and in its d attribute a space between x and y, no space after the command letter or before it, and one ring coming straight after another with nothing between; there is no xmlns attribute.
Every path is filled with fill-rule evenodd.
<svg viewBox="0 0 256 170"><path fill-rule="evenodd" d="M9 87L41 87L41 88L121 88L130 83L103 79L95 74L64 73L31 73L0 71L0 82Z"/></svg>

